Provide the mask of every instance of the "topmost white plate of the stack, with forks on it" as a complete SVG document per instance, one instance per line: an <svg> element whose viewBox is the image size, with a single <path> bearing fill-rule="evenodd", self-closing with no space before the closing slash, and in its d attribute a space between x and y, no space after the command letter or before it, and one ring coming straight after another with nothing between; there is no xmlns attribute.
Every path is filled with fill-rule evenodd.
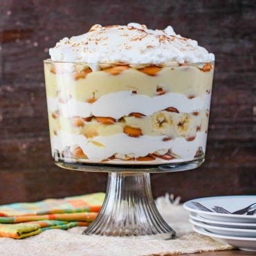
<svg viewBox="0 0 256 256"><path fill-rule="evenodd" d="M193 199L183 204L183 207L190 212L196 212L201 217L206 219L214 219L217 221L232 221L240 223L256 223L256 216L239 215L239 214L225 214L217 212L207 212L199 210L191 202L196 201L204 205L206 208L212 210L215 205L221 206L229 212L235 212L248 205L256 202L256 196L212 196L203 197L201 199Z"/></svg>

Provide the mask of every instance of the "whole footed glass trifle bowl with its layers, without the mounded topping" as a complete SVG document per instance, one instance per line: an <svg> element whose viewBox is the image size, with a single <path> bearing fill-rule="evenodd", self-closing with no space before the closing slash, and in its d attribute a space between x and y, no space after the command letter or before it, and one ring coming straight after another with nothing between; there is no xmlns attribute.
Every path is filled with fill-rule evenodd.
<svg viewBox="0 0 256 256"><path fill-rule="evenodd" d="M212 61L44 61L55 164L109 172L102 210L85 234L175 237L154 205L149 173L203 163L213 70Z"/></svg>

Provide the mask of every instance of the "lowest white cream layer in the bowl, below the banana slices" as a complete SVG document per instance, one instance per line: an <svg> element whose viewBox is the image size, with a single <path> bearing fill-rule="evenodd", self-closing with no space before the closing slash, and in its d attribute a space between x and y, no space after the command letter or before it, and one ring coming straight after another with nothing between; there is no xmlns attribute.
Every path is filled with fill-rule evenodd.
<svg viewBox="0 0 256 256"><path fill-rule="evenodd" d="M139 138L132 138L127 134L115 134L86 138L83 135L59 131L57 136L53 136L51 147L52 153L55 149L62 152L66 146L81 147L89 161L92 162L102 161L113 156L113 154L132 154L134 157L147 156L147 154L152 154L161 149L170 149L173 154L179 156L183 161L190 161L194 158L199 147L202 147L203 152L205 152L207 134L204 132L197 133L196 138L192 141L187 141L185 138L163 141L164 137L140 136Z"/></svg>

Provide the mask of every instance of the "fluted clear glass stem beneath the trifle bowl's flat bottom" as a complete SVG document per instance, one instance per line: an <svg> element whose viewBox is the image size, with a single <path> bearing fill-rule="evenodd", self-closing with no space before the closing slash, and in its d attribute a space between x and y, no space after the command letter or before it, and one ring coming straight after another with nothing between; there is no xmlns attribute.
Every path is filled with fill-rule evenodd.
<svg viewBox="0 0 256 256"><path fill-rule="evenodd" d="M154 203L149 173L110 172L107 194L98 217L86 235L175 236Z"/></svg>

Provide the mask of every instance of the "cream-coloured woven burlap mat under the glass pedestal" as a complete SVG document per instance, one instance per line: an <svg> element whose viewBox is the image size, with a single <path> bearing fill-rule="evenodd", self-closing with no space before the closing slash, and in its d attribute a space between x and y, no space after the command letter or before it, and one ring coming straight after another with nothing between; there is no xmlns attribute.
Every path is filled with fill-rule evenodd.
<svg viewBox="0 0 256 256"><path fill-rule="evenodd" d="M77 227L68 231L46 230L21 240L0 238L0 255L156 256L232 249L231 246L193 232L188 212L181 205L170 203L167 197L156 199L156 205L167 223L176 230L177 239L165 241L139 237L86 236L81 235L84 227Z"/></svg>

